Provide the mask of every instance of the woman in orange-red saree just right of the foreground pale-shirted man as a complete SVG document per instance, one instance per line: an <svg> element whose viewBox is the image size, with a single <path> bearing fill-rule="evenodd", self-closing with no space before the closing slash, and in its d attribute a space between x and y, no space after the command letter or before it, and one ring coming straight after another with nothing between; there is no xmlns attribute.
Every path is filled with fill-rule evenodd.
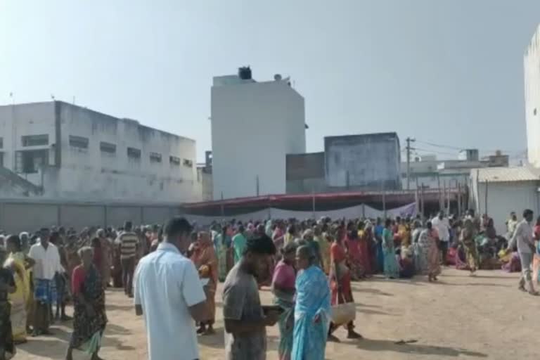
<svg viewBox="0 0 540 360"><path fill-rule="evenodd" d="M208 283L204 286L206 295L207 319L200 322L197 333L203 335L214 334L214 321L216 319L216 290L217 290L217 256L210 233L201 231L198 234L197 250L191 256L195 268L199 271L200 278L207 278Z"/></svg>

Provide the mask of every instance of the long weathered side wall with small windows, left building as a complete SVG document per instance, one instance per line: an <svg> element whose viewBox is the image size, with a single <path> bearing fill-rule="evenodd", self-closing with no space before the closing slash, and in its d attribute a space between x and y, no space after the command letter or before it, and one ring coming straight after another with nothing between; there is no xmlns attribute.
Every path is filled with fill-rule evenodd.
<svg viewBox="0 0 540 360"><path fill-rule="evenodd" d="M195 141L144 127L134 120L117 119L67 103L60 107L62 167L58 174L60 197L101 196L112 200L200 200ZM71 136L89 139L89 148L70 146ZM116 145L103 153L101 141ZM141 150L139 161L128 158L127 148ZM150 162L150 153L161 162ZM181 158L179 166L169 156ZM191 160L186 167L184 160Z"/></svg>

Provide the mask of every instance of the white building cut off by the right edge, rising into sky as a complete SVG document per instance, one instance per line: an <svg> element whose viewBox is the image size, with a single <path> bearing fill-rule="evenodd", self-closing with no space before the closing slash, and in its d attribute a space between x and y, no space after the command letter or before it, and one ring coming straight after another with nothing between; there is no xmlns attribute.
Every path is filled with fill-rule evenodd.
<svg viewBox="0 0 540 360"><path fill-rule="evenodd" d="M523 60L525 68L525 119L527 158L540 167L540 25L532 36Z"/></svg>

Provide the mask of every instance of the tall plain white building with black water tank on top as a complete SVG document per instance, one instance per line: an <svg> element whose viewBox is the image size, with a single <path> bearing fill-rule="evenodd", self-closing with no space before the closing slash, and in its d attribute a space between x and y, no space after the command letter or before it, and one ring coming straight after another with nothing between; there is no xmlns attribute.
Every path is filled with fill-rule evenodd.
<svg viewBox="0 0 540 360"><path fill-rule="evenodd" d="M285 155L306 151L304 98L288 79L238 74L212 86L214 200L285 193Z"/></svg>

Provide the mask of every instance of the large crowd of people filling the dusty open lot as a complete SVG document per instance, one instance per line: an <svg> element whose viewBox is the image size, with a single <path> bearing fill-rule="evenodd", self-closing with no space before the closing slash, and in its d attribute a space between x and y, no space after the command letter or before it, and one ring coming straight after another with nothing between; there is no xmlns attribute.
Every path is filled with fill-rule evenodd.
<svg viewBox="0 0 540 360"><path fill-rule="evenodd" d="M515 213L507 233L493 220L446 217L395 219L271 219L225 221L210 227L174 218L164 226L119 229L62 227L0 235L0 360L15 354L27 334L50 335L53 321L73 321L65 359L83 349L94 360L107 323L105 290L123 288L146 322L150 359L198 359L197 334L214 334L217 285L222 301L226 359L265 359L266 326L278 324L279 359L324 359L326 342L360 339L352 282L427 276L442 265L502 266L522 271L519 288L536 295L540 218ZM273 305L259 289L270 286ZM73 318L65 313L73 304ZM53 311L54 310L54 311ZM172 335L174 334L174 335ZM172 339L174 336L174 339Z"/></svg>

